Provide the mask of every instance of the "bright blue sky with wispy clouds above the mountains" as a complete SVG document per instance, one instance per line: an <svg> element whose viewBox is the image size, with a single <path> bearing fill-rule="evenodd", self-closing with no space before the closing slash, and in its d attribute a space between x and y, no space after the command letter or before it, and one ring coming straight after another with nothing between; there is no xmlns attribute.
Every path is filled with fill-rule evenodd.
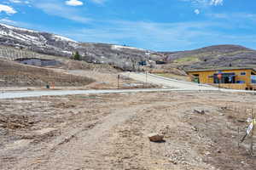
<svg viewBox="0 0 256 170"><path fill-rule="evenodd" d="M0 0L0 22L155 51L256 49L255 0Z"/></svg>

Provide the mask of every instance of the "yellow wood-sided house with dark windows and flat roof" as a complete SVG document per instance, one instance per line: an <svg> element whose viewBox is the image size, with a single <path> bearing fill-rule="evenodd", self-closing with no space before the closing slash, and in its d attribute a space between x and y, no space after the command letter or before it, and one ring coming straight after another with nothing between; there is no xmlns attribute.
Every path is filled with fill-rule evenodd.
<svg viewBox="0 0 256 170"><path fill-rule="evenodd" d="M192 82L216 85L221 88L256 90L256 70L230 68L186 71Z"/></svg>

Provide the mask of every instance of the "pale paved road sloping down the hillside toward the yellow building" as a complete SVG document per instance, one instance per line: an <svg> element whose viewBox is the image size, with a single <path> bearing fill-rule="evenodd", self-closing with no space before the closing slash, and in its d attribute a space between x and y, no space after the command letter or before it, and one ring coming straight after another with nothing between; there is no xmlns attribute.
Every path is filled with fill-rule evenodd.
<svg viewBox="0 0 256 170"><path fill-rule="evenodd" d="M159 77L153 74L144 74L144 73L136 73L136 72L125 72L122 73L123 76L130 77L132 79L135 79L140 82L148 82L153 84L159 84L163 85L166 88L183 88L183 89L190 89L190 90L216 90L218 88L204 85L204 84L198 84L195 82L184 82L184 81L178 81L171 78L166 77Z"/></svg>

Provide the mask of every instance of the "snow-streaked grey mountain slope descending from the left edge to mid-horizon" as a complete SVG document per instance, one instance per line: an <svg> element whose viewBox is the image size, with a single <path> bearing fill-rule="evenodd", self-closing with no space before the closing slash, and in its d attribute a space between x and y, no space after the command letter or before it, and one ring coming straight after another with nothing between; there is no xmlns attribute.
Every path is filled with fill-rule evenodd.
<svg viewBox="0 0 256 170"><path fill-rule="evenodd" d="M152 51L142 48L106 43L76 42L48 32L32 31L0 23L0 45L26 48L41 54L71 57L75 51L82 59L93 63L108 63L120 68L131 68L135 63L149 60Z"/></svg>

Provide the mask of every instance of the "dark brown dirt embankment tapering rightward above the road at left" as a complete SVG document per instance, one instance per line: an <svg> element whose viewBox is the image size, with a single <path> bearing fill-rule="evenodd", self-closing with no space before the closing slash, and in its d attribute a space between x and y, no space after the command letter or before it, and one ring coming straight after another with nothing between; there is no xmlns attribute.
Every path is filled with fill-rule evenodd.
<svg viewBox="0 0 256 170"><path fill-rule="evenodd" d="M34 87L55 84L55 86L84 86L93 79L60 73L47 68L22 65L0 59L0 87Z"/></svg>

